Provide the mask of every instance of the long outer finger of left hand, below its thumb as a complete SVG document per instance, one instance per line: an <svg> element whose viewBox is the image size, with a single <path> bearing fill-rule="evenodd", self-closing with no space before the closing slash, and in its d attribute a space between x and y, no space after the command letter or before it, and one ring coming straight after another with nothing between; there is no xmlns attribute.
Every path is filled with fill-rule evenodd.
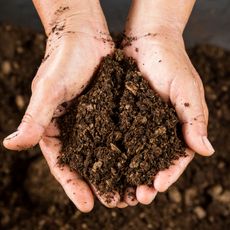
<svg viewBox="0 0 230 230"><path fill-rule="evenodd" d="M94 206L94 199L87 183L76 172L71 172L67 166L61 167L57 163L57 157L60 155L59 140L44 137L39 144L51 173L61 184L67 196L80 211L90 212Z"/></svg>

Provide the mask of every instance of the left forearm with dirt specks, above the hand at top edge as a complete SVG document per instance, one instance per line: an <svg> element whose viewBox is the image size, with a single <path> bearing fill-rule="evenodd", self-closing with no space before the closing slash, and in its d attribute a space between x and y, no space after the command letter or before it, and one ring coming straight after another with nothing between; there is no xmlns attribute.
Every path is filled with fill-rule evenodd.
<svg viewBox="0 0 230 230"><path fill-rule="evenodd" d="M99 0L41 1L33 0L45 32L49 35L56 25L65 30L90 33L95 27L107 30ZM65 25L65 26L64 26Z"/></svg>

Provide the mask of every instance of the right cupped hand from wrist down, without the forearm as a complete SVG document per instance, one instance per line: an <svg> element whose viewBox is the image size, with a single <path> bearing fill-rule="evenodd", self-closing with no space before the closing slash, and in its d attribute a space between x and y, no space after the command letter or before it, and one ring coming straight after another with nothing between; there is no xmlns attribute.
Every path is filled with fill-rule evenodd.
<svg viewBox="0 0 230 230"><path fill-rule="evenodd" d="M133 37L131 46L124 47L126 55L137 61L152 88L175 107L188 145L187 157L180 158L169 169L159 172L152 188L144 185L137 187L137 200L149 204L157 192L167 190L179 178L193 159L194 152L209 156L214 149L207 139L208 109L203 85L186 54L182 36L163 29L137 35L132 30L126 33Z"/></svg>

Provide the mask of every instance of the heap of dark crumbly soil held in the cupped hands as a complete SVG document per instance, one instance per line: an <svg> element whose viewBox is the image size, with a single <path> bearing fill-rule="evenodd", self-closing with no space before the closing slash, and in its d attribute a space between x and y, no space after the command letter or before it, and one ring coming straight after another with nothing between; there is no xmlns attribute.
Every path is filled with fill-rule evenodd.
<svg viewBox="0 0 230 230"><path fill-rule="evenodd" d="M61 164L101 194L152 185L185 156L175 109L163 102L121 50L105 57L88 88L58 119Z"/></svg>

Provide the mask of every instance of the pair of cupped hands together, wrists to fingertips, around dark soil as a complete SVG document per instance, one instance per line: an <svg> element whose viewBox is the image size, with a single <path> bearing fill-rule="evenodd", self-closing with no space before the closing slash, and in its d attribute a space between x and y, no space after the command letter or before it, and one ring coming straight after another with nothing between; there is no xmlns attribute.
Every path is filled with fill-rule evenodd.
<svg viewBox="0 0 230 230"><path fill-rule="evenodd" d="M70 102L84 90L102 58L113 53L114 43L102 11L57 17L45 30L45 58L32 82L29 106L17 131L4 140L4 146L22 150L39 143L51 173L79 210L92 210L94 194L110 208L135 206L138 202L150 204L158 192L166 191L179 178L194 152L204 156L214 152L207 139L208 109L203 85L186 54L182 32L167 26L149 31L131 17L126 22L125 34L135 39L124 46L124 52L136 60L152 88L175 107L188 146L187 156L159 172L152 187L127 188L123 200L114 191L113 199L106 203L105 196L100 196L76 172L58 165L61 143L55 117L63 113L64 102ZM132 193L134 197L129 196Z"/></svg>

